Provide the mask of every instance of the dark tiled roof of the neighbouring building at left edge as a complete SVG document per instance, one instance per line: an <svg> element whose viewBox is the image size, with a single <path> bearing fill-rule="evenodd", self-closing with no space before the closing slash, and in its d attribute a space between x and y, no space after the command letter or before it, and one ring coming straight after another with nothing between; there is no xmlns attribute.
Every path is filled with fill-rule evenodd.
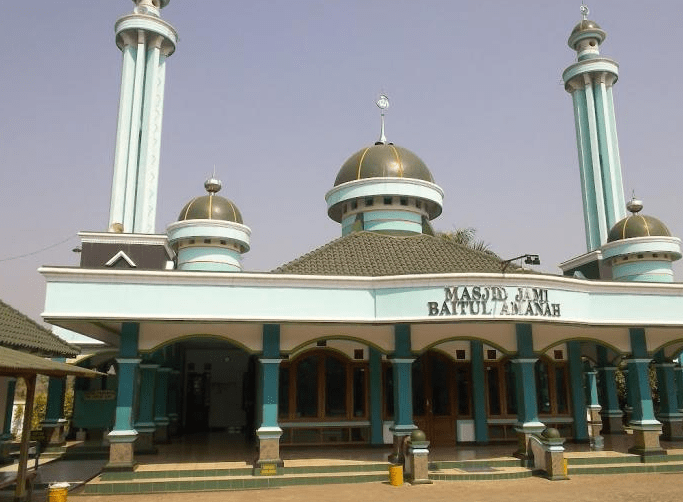
<svg viewBox="0 0 683 502"><path fill-rule="evenodd" d="M45 356L75 356L79 350L0 300L0 346Z"/></svg>

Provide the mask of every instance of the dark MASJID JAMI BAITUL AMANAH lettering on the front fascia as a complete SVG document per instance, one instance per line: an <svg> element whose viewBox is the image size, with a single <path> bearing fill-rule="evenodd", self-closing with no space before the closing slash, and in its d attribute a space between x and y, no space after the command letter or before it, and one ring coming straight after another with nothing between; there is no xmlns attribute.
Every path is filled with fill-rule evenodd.
<svg viewBox="0 0 683 502"><path fill-rule="evenodd" d="M444 300L427 302L430 316L560 317L560 304L551 303L543 288L449 286Z"/></svg>

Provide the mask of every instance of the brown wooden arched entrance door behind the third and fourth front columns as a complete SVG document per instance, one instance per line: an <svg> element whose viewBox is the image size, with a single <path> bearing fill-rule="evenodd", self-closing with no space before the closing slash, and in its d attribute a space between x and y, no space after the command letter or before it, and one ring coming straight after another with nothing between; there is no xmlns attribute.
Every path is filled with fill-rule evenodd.
<svg viewBox="0 0 683 502"><path fill-rule="evenodd" d="M470 416L470 366L430 351L413 363L413 420L435 445L453 445L456 420Z"/></svg>

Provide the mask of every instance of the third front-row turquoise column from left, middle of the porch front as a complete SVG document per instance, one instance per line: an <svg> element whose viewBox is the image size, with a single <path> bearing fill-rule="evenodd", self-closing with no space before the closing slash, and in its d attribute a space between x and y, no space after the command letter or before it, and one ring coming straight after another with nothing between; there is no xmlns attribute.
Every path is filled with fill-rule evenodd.
<svg viewBox="0 0 683 502"><path fill-rule="evenodd" d="M410 340L410 325L394 326L394 354L391 359L394 371L394 434L396 453L401 451L403 440L415 427L413 424L413 357ZM427 438L429 439L429 438Z"/></svg>

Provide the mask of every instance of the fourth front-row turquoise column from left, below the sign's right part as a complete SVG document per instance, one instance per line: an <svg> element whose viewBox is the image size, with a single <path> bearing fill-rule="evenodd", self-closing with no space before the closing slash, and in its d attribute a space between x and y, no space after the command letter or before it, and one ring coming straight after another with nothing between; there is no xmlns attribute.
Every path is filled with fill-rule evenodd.
<svg viewBox="0 0 683 502"><path fill-rule="evenodd" d="M531 324L516 324L515 335L517 355L512 360L517 391L517 451L515 456L528 458L529 436L539 434L545 429L545 425L538 419L536 401L534 365L538 358L534 354Z"/></svg>

